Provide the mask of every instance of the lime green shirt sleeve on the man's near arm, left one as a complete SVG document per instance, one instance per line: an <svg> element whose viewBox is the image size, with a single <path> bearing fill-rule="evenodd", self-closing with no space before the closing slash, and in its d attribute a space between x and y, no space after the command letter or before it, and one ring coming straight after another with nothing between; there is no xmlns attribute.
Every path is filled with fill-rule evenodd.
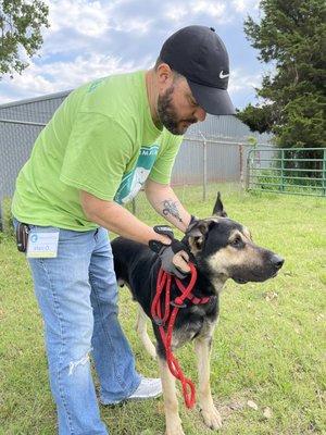
<svg viewBox="0 0 326 435"><path fill-rule="evenodd" d="M60 179L97 198L112 200L131 157L133 141L116 121L100 113L78 113Z"/></svg>

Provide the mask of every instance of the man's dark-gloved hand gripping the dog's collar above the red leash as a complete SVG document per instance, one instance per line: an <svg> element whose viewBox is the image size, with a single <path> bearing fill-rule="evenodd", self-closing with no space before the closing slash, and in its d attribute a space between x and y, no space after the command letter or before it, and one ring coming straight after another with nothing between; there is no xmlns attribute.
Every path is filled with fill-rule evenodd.
<svg viewBox="0 0 326 435"><path fill-rule="evenodd" d="M167 225L154 226L154 232L171 238L171 245L164 245L158 240L150 240L149 243L149 247L160 257L163 271L180 279L185 278L187 273L190 272L189 256L185 251L185 246L174 238L173 232Z"/></svg>

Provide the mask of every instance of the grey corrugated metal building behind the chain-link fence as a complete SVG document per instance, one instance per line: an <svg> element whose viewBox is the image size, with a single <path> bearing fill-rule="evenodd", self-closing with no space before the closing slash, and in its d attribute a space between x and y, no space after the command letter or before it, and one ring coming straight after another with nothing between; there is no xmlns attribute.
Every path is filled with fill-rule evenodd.
<svg viewBox="0 0 326 435"><path fill-rule="evenodd" d="M35 139L70 91L0 105L0 223L3 198L12 197L20 169L27 161ZM268 135L252 134L234 116L210 116L189 128L173 170L177 186L202 186L234 182L244 186L248 137L271 148Z"/></svg>

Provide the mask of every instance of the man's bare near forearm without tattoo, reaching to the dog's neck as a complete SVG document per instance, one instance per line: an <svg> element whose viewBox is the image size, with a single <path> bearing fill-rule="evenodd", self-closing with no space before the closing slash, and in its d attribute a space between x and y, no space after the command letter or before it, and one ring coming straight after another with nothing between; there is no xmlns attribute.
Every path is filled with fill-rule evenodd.
<svg viewBox="0 0 326 435"><path fill-rule="evenodd" d="M91 222L103 226L114 233L148 245L149 240L159 240L164 245L170 245L167 236L158 234L154 229L139 221L128 210L114 201L104 201L80 190L80 203L85 215Z"/></svg>

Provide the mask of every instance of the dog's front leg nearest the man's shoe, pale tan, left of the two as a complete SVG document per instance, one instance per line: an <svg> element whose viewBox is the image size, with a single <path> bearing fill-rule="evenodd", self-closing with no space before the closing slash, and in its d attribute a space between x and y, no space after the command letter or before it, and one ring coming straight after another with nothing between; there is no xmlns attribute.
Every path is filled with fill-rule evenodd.
<svg viewBox="0 0 326 435"><path fill-rule="evenodd" d="M175 378L171 374L166 361L161 357L158 360L163 387L166 435L185 435L178 413Z"/></svg>

